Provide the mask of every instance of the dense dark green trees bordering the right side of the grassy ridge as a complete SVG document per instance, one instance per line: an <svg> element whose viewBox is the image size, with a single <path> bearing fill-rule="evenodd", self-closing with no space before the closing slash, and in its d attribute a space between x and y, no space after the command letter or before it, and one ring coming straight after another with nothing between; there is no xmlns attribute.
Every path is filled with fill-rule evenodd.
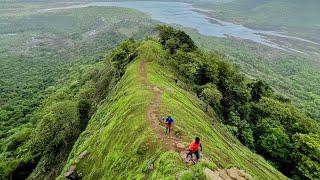
<svg viewBox="0 0 320 180"><path fill-rule="evenodd" d="M170 36L168 32L166 36ZM160 42L164 40L161 34ZM168 47L164 48L171 53ZM186 52L181 48L166 59L190 88L212 105L242 144L263 155L289 177L319 177L320 126L288 99L274 93L261 80L246 79L216 54ZM300 144L297 137L305 137L311 149L301 151L301 146L296 145ZM301 154L296 156L295 151Z"/></svg>

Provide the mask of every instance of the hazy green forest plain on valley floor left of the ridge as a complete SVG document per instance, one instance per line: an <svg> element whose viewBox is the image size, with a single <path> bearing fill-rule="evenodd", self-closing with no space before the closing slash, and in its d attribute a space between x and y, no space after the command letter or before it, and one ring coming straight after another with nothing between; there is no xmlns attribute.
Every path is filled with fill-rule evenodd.
<svg viewBox="0 0 320 180"><path fill-rule="evenodd" d="M1 163L18 165L11 159L15 150L29 139L46 99L74 83L70 73L101 61L124 39L142 38L153 22L111 7L33 14L30 5L20 5L29 10L23 16L11 14L17 5L9 7L14 10L2 6L0 17L0 156Z"/></svg>

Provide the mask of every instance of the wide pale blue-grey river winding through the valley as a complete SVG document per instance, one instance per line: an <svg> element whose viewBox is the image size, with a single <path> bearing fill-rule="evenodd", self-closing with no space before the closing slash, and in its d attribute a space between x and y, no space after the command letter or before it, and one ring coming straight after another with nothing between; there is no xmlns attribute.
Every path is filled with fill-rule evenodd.
<svg viewBox="0 0 320 180"><path fill-rule="evenodd" d="M73 5L60 8L51 8L44 11L53 11L58 9L71 9L89 6L115 6L132 8L141 12L150 14L155 20L168 24L178 24L187 28L196 29L200 34L216 37L235 37L239 39L250 40L269 47L303 53L301 51L278 45L270 41L267 36L276 36L287 39L303 41L320 45L316 42L302 38L283 35L274 31L261 31L250 29L239 24L221 21L213 17L200 13L195 10L191 4L181 2L157 2L157 1L130 1L130 2L90 2L82 5Z"/></svg>

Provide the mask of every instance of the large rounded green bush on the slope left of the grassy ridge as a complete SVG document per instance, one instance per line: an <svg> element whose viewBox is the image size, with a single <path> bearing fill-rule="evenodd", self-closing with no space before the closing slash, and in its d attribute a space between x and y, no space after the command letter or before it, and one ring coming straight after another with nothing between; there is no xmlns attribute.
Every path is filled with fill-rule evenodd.
<svg viewBox="0 0 320 180"><path fill-rule="evenodd" d="M53 104L43 114L31 137L34 154L51 154L68 147L80 133L77 104L63 101Z"/></svg>

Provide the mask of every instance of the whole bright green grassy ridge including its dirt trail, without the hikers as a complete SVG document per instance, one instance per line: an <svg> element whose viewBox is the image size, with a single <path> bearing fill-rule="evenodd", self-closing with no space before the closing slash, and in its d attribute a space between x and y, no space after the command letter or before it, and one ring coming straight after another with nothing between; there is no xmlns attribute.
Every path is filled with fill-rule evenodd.
<svg viewBox="0 0 320 180"><path fill-rule="evenodd" d="M231 167L253 179L286 179L176 84L172 70L160 65L164 54L154 41L141 44L138 57L74 145L59 178L73 166L83 179L206 179L207 171ZM170 136L159 121L168 114L175 119ZM204 158L190 167L176 144L187 146L195 136L202 139Z"/></svg>

